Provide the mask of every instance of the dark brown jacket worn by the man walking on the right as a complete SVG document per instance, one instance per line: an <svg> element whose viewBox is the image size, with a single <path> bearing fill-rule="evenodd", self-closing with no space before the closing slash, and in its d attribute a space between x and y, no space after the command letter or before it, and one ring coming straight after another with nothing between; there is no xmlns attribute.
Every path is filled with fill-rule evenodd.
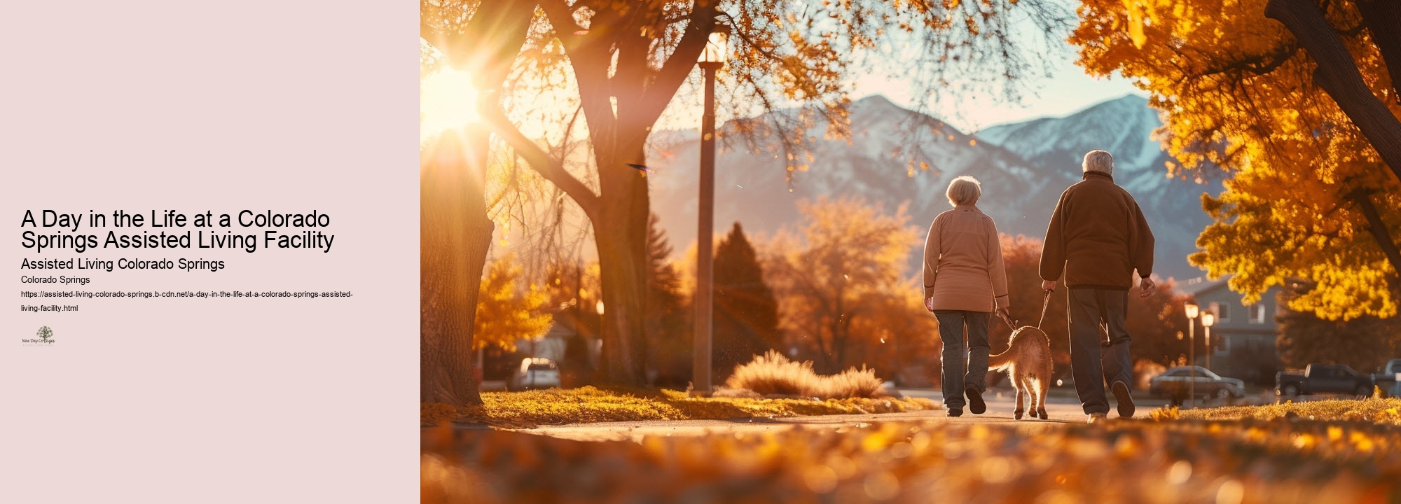
<svg viewBox="0 0 1401 504"><path fill-rule="evenodd" d="M1104 172L1061 193L1041 246L1041 279L1066 287L1128 290L1133 270L1153 274L1153 231L1138 202Z"/></svg>

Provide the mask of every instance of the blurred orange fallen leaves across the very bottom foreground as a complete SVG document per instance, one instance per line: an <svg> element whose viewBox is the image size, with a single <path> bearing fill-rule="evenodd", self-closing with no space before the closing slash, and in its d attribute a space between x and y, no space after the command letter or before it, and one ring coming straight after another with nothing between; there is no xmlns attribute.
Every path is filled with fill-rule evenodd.
<svg viewBox="0 0 1401 504"><path fill-rule="evenodd" d="M866 424L863 424L866 426ZM1035 433L884 423L586 442L437 428L423 503L1387 503L1401 430L1114 421Z"/></svg>

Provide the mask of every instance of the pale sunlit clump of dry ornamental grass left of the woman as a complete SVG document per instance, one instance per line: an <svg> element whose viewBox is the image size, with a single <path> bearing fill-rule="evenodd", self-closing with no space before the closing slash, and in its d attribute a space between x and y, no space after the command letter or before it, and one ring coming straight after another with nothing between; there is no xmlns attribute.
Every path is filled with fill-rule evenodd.
<svg viewBox="0 0 1401 504"><path fill-rule="evenodd" d="M820 375L811 361L790 361L769 350L755 356L748 364L734 368L724 386L745 389L764 396L797 396L818 399L877 399L887 396L876 370L850 368L835 375Z"/></svg>

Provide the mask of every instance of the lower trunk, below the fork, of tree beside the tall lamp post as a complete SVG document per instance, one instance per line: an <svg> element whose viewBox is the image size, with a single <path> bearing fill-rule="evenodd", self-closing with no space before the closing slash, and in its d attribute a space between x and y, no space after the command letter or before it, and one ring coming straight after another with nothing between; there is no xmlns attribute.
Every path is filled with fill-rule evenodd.
<svg viewBox="0 0 1401 504"><path fill-rule="evenodd" d="M618 136L633 137L621 148L612 141L594 140L598 182L604 197L593 218L602 277L602 379L615 385L642 384L646 363L646 291L647 291L647 217L650 202L642 171L628 167L642 164L646 132Z"/></svg>

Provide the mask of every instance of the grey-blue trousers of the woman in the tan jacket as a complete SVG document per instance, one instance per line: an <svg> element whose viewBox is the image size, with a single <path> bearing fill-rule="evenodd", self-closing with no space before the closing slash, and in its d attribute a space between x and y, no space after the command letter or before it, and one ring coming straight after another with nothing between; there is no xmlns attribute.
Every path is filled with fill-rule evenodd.
<svg viewBox="0 0 1401 504"><path fill-rule="evenodd" d="M936 311L939 339L944 342L940 354L940 371L944 391L944 407L962 409L965 388L986 389L988 378L988 318L989 312ZM964 337L968 337L964 350ZM964 370L967 368L967 374Z"/></svg>

